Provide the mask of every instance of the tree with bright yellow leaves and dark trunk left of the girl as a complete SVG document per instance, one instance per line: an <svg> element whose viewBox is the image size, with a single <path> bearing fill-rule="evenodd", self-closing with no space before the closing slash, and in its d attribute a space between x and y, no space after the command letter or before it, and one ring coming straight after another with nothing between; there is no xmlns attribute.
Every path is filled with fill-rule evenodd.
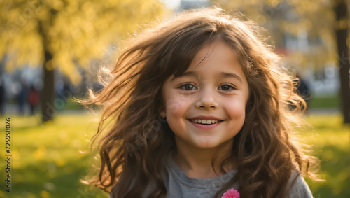
<svg viewBox="0 0 350 198"><path fill-rule="evenodd" d="M43 122L55 114L55 69L80 83L76 64L88 66L137 24L162 15L164 7L156 0L13 0L0 6L0 57L9 59L6 70L43 66Z"/></svg>

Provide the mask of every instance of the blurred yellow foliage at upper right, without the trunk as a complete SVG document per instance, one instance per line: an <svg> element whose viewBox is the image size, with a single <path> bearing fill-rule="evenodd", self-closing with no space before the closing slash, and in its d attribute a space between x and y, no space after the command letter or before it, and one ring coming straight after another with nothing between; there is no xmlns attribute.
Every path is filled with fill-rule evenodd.
<svg viewBox="0 0 350 198"><path fill-rule="evenodd" d="M319 43L311 43L308 51L292 52L288 57L298 66L312 65L314 67L325 64L337 64L335 28L344 28L349 25L348 20L335 22L335 13L332 8L335 1L331 0L247 0L226 1L211 0L225 10L239 10L258 22L262 27L269 29L272 39L281 43L281 35L290 35L295 39L300 31L307 31L309 40L319 39ZM281 3L281 5L279 5ZM281 11L281 7L283 10ZM281 13L284 12L284 13ZM276 15L275 15L276 14ZM285 17L281 19L280 17ZM282 44L283 45L283 44ZM312 49L311 49L312 48Z"/></svg>

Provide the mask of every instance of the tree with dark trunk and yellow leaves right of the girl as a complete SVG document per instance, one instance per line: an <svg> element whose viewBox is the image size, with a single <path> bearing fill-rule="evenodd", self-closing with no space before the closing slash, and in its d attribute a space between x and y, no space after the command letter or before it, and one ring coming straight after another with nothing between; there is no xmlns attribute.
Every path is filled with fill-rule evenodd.
<svg viewBox="0 0 350 198"><path fill-rule="evenodd" d="M239 10L252 20L269 29L278 48L283 36L300 36L313 42L309 49L298 49L288 54L288 62L314 68L325 64L339 65L342 111L344 122L350 122L349 52L346 38L349 37L349 16L346 0L212 0L225 10ZM286 17L287 16L287 17Z"/></svg>

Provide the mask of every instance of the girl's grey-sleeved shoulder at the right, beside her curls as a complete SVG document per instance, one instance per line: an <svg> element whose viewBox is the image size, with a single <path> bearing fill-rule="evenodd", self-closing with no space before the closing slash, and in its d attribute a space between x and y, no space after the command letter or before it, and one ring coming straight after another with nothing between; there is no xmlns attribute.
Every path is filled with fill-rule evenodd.
<svg viewBox="0 0 350 198"><path fill-rule="evenodd" d="M312 198L309 186L296 169L289 178L289 185L292 186L290 187L288 198Z"/></svg>

